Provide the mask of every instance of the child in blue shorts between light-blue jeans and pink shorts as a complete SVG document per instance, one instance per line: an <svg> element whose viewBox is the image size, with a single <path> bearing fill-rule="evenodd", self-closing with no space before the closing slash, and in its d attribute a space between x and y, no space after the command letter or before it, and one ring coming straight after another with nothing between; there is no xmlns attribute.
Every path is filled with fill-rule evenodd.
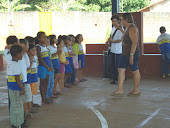
<svg viewBox="0 0 170 128"><path fill-rule="evenodd" d="M60 63L59 63L59 59L58 59L58 55L62 52L61 49L57 50L57 47L55 46L55 44L57 44L57 39L55 35L50 35L50 46L49 46L49 50L52 54L52 65L54 68L54 74L55 74L55 79L54 79L54 88L53 88L53 95L61 95L60 92L56 91L56 86L59 83L59 79L60 79ZM53 97L54 97L53 96ZM51 96L52 97L52 96ZM55 97L54 97L55 98Z"/></svg>

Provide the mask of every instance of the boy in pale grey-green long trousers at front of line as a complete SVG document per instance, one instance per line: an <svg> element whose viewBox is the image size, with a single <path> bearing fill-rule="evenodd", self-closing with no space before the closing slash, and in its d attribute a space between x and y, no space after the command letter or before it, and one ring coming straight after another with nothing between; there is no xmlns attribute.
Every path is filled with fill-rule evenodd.
<svg viewBox="0 0 170 128"><path fill-rule="evenodd" d="M23 95L25 88L22 81L22 69L19 60L23 58L23 48L13 45L10 49L12 60L8 61L7 76L10 99L10 122L11 128L27 128L24 125Z"/></svg>

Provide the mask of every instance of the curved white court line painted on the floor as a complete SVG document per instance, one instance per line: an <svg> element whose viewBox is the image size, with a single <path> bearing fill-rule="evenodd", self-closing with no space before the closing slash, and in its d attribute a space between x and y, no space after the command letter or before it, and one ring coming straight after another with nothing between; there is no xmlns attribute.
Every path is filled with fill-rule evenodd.
<svg viewBox="0 0 170 128"><path fill-rule="evenodd" d="M94 107L92 106L88 106L95 114L96 116L99 118L100 122L101 122L101 125L102 125L102 128L108 128L108 124L107 124L107 121L106 119L103 117L103 115L98 111L96 110Z"/></svg>

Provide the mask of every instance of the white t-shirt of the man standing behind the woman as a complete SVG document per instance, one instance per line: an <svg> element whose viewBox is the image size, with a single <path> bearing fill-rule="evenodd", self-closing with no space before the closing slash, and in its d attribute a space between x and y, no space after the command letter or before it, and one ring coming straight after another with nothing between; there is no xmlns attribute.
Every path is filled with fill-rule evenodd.
<svg viewBox="0 0 170 128"><path fill-rule="evenodd" d="M116 31L116 28L112 28L111 36ZM122 38L122 32L120 30L117 30L116 34L113 37L113 40L121 40ZM122 54L122 41L120 43L111 43L111 49L110 52L116 53L116 54Z"/></svg>

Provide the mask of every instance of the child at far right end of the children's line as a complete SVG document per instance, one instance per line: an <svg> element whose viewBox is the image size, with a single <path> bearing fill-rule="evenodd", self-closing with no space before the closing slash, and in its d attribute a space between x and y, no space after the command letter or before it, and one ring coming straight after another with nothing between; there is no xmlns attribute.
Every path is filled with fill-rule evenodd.
<svg viewBox="0 0 170 128"><path fill-rule="evenodd" d="M83 71L85 67L85 60L84 60L84 52L83 52L83 46L81 45L81 42L83 42L83 36L81 34L78 34L76 36L76 43L79 45L79 53L78 53L78 62L79 62L79 70L78 70L78 80L80 82L87 81L84 79Z"/></svg>

